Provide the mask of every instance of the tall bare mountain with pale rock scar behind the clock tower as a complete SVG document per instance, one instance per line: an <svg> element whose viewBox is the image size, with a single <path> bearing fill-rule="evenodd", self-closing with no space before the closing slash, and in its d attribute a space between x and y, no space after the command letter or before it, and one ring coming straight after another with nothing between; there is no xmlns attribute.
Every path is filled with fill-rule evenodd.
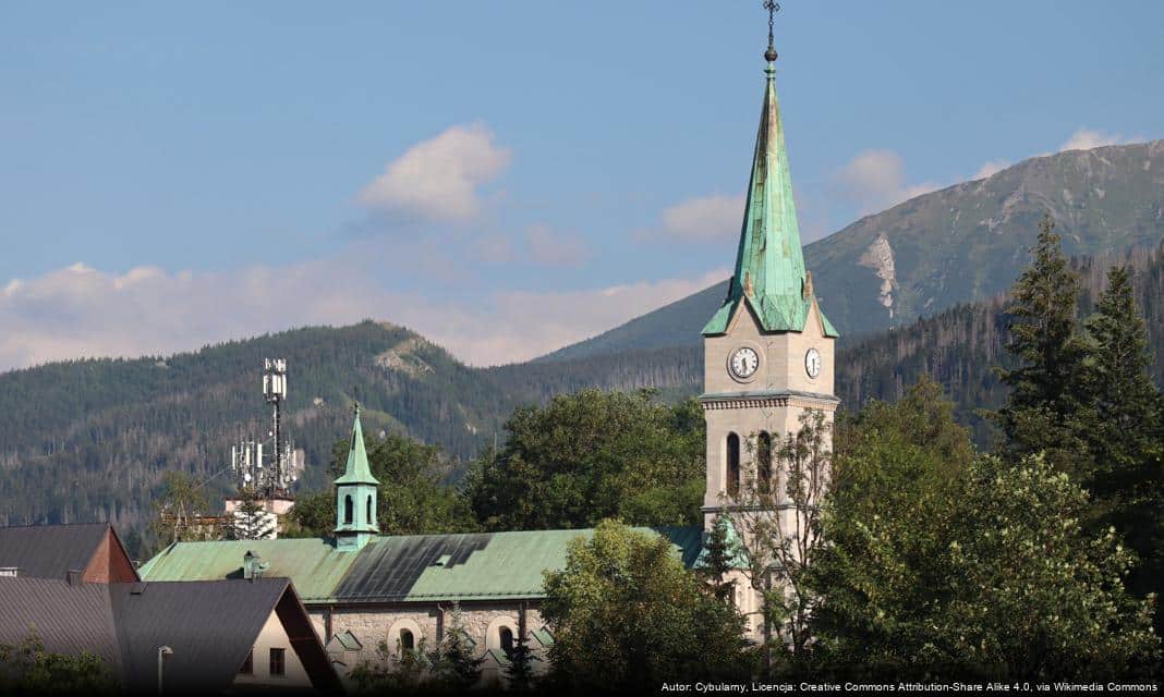
<svg viewBox="0 0 1164 697"><path fill-rule="evenodd" d="M805 247L804 262L842 346L851 346L1005 292L1044 213L1070 256L1155 246L1164 239L1164 141L1027 159L863 218ZM725 294L725 284L716 284L542 360L696 346L693 327Z"/></svg>

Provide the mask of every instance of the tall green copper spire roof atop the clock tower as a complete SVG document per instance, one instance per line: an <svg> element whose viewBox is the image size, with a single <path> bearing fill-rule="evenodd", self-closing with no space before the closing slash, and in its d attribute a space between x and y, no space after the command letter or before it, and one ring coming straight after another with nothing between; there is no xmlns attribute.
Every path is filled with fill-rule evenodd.
<svg viewBox="0 0 1164 697"><path fill-rule="evenodd" d="M771 55L775 57L775 52ZM772 61L765 73L764 108L736 254L736 275L723 307L703 327L704 335L725 333L740 303L746 301L752 307L766 332L802 330L812 307L811 280L804 270L793 179L776 100L776 69ZM821 323L828 336L837 336L823 313Z"/></svg>

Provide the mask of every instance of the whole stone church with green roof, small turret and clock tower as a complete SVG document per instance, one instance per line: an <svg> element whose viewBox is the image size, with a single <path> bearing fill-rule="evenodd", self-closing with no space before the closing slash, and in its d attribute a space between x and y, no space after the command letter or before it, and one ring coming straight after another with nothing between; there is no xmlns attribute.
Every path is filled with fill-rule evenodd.
<svg viewBox="0 0 1164 697"><path fill-rule="evenodd" d="M764 478L758 453L819 410L831 421L833 343L804 268L780 105L776 52L765 54L764 101L734 275L723 306L702 329L707 421L703 526L644 528L698 564L707 531L732 510L744 482ZM691 332L697 327L691 327ZM765 449L765 443L769 447ZM391 652L435 647L456 603L463 631L501 680L524 631L534 655L553 642L539 609L542 570L565 566L567 543L590 529L442 535L379 535L377 486L368 467L359 407L345 474L335 481L332 538L176 542L140 570L146 581L286 577L298 591L339 673ZM778 508L782 506L778 505ZM780 512L774 512L781 514ZM737 577L737 606L759 638L759 598ZM542 662L544 664L544 662Z"/></svg>

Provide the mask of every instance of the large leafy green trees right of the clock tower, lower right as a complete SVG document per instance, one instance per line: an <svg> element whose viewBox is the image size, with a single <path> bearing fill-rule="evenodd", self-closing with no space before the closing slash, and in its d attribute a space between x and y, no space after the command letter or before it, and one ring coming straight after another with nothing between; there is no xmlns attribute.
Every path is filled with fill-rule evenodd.
<svg viewBox="0 0 1164 697"><path fill-rule="evenodd" d="M816 667L1094 677L1155 660L1151 604L1124 588L1134 555L1083 527L1087 493L1039 456L968 458L932 390L870 407L838 454Z"/></svg>

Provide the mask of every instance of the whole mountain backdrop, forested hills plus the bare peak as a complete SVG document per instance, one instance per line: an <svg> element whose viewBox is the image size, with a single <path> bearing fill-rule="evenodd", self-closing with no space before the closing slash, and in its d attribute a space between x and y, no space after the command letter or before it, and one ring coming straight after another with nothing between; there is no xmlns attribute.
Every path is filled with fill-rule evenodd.
<svg viewBox="0 0 1164 697"><path fill-rule="evenodd" d="M924 371L959 419L988 439L977 410L1000 403L989 367L1003 360L1000 293L1027 262L1049 211L1087 294L1109 258L1133 251L1137 297L1164 354L1164 141L1038 157L987 179L918 197L809 246L825 312L840 329L837 390L847 407L894 399ZM1140 247L1137 247L1140 246ZM504 440L520 405L584 387L697 393L698 327L724 296L717 284L540 360L468 368L402 327L367 321L313 327L172 357L86 360L0 375L0 525L112 520L135 526L168 470L222 476L232 442L262 435L264 357L291 368L290 432L304 450L304 485L324 483L332 443L364 405L369 431L435 443L464 461ZM967 304L973 300L974 304ZM1084 299L1086 310L1090 298ZM927 319L917 320L918 315ZM885 332L886 328L890 330ZM456 463L449 468L461 471Z"/></svg>

